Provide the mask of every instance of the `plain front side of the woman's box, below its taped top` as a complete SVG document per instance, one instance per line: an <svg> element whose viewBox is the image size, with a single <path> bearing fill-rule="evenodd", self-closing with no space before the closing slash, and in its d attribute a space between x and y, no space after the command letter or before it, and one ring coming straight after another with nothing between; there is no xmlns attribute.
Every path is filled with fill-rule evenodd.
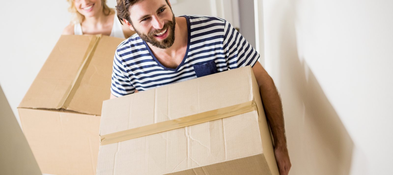
<svg viewBox="0 0 393 175"><path fill-rule="evenodd" d="M96 115L18 109L23 132L43 173L95 174L99 149Z"/></svg>

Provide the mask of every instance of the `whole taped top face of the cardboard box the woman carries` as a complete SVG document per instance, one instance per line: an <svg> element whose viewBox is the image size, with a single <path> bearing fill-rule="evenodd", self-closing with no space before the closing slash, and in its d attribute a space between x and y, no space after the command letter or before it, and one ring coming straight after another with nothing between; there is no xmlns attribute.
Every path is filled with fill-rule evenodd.
<svg viewBox="0 0 393 175"><path fill-rule="evenodd" d="M121 41L100 35L61 36L19 108L101 115L102 101L110 96L113 55Z"/></svg>

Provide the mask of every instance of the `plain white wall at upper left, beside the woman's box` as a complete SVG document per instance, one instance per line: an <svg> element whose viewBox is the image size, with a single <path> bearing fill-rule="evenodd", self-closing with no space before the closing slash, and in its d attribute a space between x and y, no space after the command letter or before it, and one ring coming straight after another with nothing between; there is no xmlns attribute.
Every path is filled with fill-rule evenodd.
<svg viewBox="0 0 393 175"><path fill-rule="evenodd" d="M2 12L0 85L19 121L17 106L70 22L66 0L7 1Z"/></svg>

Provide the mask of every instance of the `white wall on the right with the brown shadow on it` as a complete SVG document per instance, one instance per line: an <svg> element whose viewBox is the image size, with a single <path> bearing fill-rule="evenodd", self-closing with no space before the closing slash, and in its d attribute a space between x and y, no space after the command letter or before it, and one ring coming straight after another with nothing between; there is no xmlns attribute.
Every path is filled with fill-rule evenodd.
<svg viewBox="0 0 393 175"><path fill-rule="evenodd" d="M392 8L264 0L265 67L283 101L290 174L391 174Z"/></svg>

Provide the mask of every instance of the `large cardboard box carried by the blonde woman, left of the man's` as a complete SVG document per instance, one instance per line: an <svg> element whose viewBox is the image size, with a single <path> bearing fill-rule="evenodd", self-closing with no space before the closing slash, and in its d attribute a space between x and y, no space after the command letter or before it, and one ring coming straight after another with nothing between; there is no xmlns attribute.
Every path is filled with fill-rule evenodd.
<svg viewBox="0 0 393 175"><path fill-rule="evenodd" d="M18 106L42 173L95 174L102 102L116 47L109 36L61 36Z"/></svg>

